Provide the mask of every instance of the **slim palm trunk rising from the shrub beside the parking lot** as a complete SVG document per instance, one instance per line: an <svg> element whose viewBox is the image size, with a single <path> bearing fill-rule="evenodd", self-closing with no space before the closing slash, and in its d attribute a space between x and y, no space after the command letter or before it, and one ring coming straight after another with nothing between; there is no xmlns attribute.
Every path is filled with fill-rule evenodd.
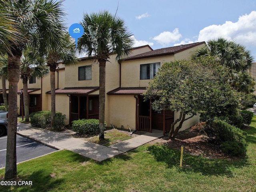
<svg viewBox="0 0 256 192"><path fill-rule="evenodd" d="M50 84L51 84L51 129L54 130L55 117L55 71L56 66L50 65Z"/></svg>

